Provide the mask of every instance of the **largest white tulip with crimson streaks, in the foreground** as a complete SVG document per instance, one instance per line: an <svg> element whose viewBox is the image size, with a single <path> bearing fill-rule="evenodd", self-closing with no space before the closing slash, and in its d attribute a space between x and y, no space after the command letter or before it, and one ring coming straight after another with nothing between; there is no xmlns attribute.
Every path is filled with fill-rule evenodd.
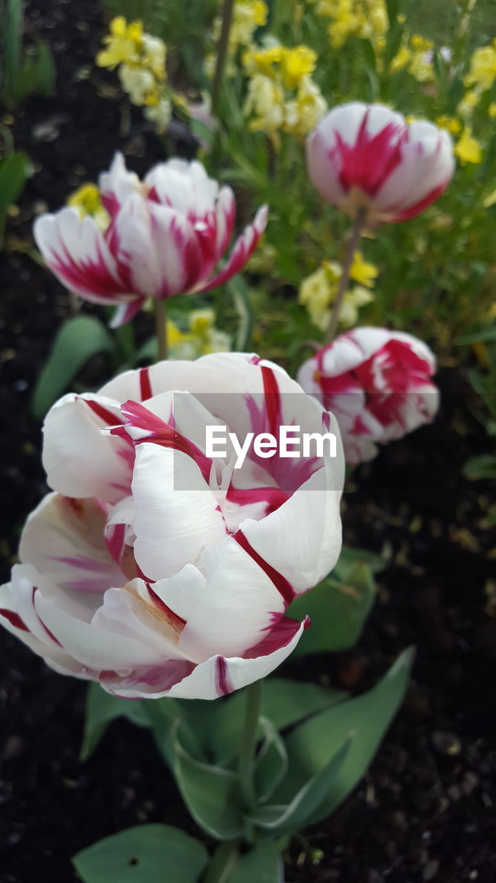
<svg viewBox="0 0 496 883"><path fill-rule="evenodd" d="M235 471L206 455L218 424L331 431L338 456L252 450ZM43 461L55 492L27 520L0 621L51 668L127 698L216 698L291 653L308 623L287 608L340 553L344 466L334 417L281 368L222 353L64 396Z"/></svg>

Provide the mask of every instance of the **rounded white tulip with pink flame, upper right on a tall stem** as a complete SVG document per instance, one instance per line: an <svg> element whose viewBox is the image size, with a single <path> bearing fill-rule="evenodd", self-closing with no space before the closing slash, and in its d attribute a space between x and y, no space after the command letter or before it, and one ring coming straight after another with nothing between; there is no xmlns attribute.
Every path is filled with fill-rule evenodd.
<svg viewBox="0 0 496 883"><path fill-rule="evenodd" d="M364 223L408 221L437 200L455 168L447 132L405 123L382 104L351 102L331 110L306 142L310 177L320 195Z"/></svg>

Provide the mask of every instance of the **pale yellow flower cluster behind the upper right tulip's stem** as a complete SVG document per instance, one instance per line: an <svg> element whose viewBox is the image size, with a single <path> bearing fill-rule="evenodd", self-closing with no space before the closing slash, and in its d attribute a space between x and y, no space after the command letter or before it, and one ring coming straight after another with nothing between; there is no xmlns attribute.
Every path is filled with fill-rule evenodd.
<svg viewBox="0 0 496 883"><path fill-rule="evenodd" d="M351 279L358 283L345 292L339 321L349 328L356 325L358 310L373 300L371 289L379 275L374 264L364 260L361 252L355 252L349 273ZM310 318L317 328L325 331L331 316L331 307L337 295L342 268L334 260L323 260L320 267L311 275L306 276L300 285L298 300L306 306Z"/></svg>

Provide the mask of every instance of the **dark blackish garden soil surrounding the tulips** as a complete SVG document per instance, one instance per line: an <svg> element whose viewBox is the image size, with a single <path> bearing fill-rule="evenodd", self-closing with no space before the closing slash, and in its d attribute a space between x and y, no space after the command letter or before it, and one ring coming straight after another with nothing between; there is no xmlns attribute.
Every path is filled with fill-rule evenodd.
<svg viewBox="0 0 496 883"><path fill-rule="evenodd" d="M52 100L26 102L13 127L16 147L31 156L36 173L9 225L10 251L3 256L3 579L23 520L45 491L30 390L56 327L70 312L62 287L22 242L13 250L12 240L29 245L34 214L58 208L69 190L95 180L116 147L137 170L162 150L141 131L139 116L132 131L120 135L117 102L95 88L95 76L105 80L92 67L99 4L37 0L28 4L27 21L50 42L58 87ZM94 383L105 370L94 362ZM364 781L333 817L307 833L312 849L323 853L319 864L308 850L291 849L291 883L496 879L496 543L485 524L494 494L462 478L465 459L485 450L468 389L452 369L439 381L443 405L435 424L384 449L354 475L346 495L346 541L375 550L386 544L390 555L363 638L352 653L309 660L304 671L309 679L326 676L360 691L413 644L410 691ZM49 671L7 633L0 641L1 883L69 883L76 879L69 861L75 852L139 822L163 821L194 833L147 732L117 721L81 765L86 685ZM287 673L294 673L294 663Z"/></svg>

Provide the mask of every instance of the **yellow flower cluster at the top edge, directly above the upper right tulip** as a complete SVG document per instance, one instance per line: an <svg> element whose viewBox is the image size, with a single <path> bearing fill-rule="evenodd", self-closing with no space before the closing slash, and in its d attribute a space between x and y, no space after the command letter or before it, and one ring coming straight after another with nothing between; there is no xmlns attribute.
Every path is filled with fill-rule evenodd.
<svg viewBox="0 0 496 883"><path fill-rule="evenodd" d="M327 33L334 49L349 37L380 41L389 27L385 0L312 0L317 15L331 19Z"/></svg>

